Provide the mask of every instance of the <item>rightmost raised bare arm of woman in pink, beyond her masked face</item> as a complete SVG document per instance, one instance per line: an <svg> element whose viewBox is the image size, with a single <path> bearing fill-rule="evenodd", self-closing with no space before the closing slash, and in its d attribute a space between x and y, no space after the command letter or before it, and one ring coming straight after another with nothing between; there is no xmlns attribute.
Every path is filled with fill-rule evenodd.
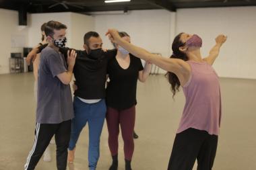
<svg viewBox="0 0 256 170"><path fill-rule="evenodd" d="M209 65L213 65L214 61L220 54L220 48L222 47L222 44L226 42L227 36L224 35L219 35L215 40L216 40L216 45L210 50L209 56L206 58L203 58Z"/></svg>

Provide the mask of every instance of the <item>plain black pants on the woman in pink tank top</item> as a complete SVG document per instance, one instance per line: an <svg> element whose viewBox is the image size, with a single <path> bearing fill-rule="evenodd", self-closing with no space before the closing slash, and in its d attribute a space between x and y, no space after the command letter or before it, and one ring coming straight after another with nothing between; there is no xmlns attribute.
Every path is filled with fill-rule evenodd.
<svg viewBox="0 0 256 170"><path fill-rule="evenodd" d="M189 128L176 135L168 170L191 170L197 159L197 170L211 170L214 165L218 136Z"/></svg>

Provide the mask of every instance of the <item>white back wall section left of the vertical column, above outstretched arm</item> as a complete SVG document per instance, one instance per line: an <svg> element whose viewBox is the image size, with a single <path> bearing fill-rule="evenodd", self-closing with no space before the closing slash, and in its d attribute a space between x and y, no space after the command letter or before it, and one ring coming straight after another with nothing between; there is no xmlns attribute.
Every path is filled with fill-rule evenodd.
<svg viewBox="0 0 256 170"><path fill-rule="evenodd" d="M104 36L108 28L117 28L131 36L131 42L150 52L170 56L170 28L174 27L174 13L165 10L131 11L124 15L96 15L95 30L102 36L105 48L113 48ZM166 71L161 71L165 73Z"/></svg>

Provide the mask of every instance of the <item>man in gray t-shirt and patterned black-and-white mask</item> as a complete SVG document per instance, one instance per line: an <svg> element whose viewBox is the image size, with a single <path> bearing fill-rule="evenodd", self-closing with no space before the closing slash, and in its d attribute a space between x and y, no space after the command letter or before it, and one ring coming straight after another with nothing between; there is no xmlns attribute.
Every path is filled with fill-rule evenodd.
<svg viewBox="0 0 256 170"><path fill-rule="evenodd" d="M65 46L67 27L51 21L44 30L49 45L42 50L38 69L36 135L25 170L34 170L44 150L55 135L57 169L67 168L67 147L71 133L73 105L69 83L73 76L76 53L67 54L67 62L59 48Z"/></svg>

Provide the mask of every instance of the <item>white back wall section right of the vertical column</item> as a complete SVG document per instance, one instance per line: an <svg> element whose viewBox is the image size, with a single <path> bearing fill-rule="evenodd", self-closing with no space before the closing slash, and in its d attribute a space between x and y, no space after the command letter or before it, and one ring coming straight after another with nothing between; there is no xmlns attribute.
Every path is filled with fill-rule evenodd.
<svg viewBox="0 0 256 170"><path fill-rule="evenodd" d="M199 34L203 55L214 45L218 34L226 34L214 68L220 77L256 79L256 7L179 9L177 30Z"/></svg>

